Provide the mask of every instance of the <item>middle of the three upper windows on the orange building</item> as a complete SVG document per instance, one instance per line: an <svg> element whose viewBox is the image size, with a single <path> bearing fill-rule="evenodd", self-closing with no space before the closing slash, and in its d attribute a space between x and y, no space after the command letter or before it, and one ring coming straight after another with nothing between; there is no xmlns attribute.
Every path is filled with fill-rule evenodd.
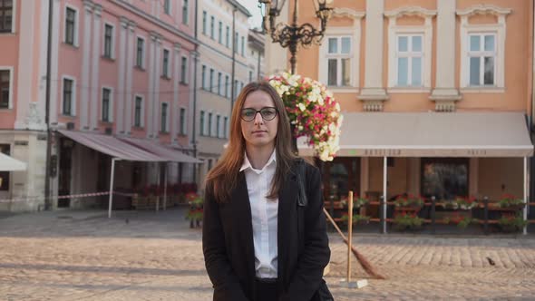
<svg viewBox="0 0 535 301"><path fill-rule="evenodd" d="M399 34L396 38L396 86L423 85L423 35Z"/></svg>

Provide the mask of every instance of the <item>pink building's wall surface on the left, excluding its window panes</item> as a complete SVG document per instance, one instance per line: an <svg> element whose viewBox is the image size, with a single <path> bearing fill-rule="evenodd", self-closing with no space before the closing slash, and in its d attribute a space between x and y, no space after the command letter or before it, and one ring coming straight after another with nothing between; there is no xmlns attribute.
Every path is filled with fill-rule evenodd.
<svg viewBox="0 0 535 301"><path fill-rule="evenodd" d="M53 129L64 129L73 122L75 131L104 133L112 128L115 135L180 144L190 149L193 121L190 110L194 39L194 1L189 0L188 22L183 22L182 5L187 0L170 1L170 14L163 1L144 0L54 0L51 66L50 122ZM46 97L46 49L48 41L48 1L14 2L11 33L0 34L2 55L0 70L11 71L10 107L0 109L0 141L12 145L11 154L28 164L28 170L12 172L12 188L0 198L42 197L44 195L44 110ZM73 45L65 43L66 7L76 12ZM104 28L111 24L112 57L104 53ZM136 38L145 39L142 68L135 67ZM170 51L169 78L161 76L163 49ZM186 58L186 73L181 78L181 57ZM64 115L63 79L74 81L73 114ZM110 88L111 121L102 121L102 87ZM141 127L133 126L134 97L143 98ZM169 103L168 131L160 131L160 108ZM151 111L150 111L151 108ZM185 132L180 132L180 108L186 110ZM13 130L17 130L14 133ZM58 135L54 135L52 154L57 155ZM27 141L27 145L15 145ZM24 144L23 143L23 144ZM73 157L73 191L92 192L97 177L92 150L80 150ZM59 160L58 160L59 161ZM57 166L56 166L57 167ZM191 179L193 166L186 164L183 179ZM89 171L88 171L89 170ZM178 178L178 167L170 170L170 179ZM87 179L90 179L88 182ZM122 177L128 182L128 177ZM154 179L148 179L149 181ZM121 181L121 180L120 180ZM57 194L57 176L52 179ZM43 199L11 206L13 210L42 209ZM57 199L53 200L56 206ZM4 207L2 207L4 206ZM77 206L77 205L73 205ZM4 204L0 208L5 209Z"/></svg>

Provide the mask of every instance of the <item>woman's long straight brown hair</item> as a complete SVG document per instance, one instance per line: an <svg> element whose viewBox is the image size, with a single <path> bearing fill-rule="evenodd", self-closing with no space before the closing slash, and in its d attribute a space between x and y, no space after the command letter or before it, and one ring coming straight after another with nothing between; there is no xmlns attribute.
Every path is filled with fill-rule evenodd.
<svg viewBox="0 0 535 301"><path fill-rule="evenodd" d="M267 92L275 103L278 113L277 137L275 138L275 150L277 151L277 170L271 184L268 199L276 199L284 177L290 170L293 160L297 156L291 150L292 133L287 117L284 102L277 91L268 82L248 83L238 95L238 99L232 109L230 117L230 138L227 150L218 160L216 166L209 170L206 177L206 188L213 191L217 202L225 203L230 201L230 193L238 186L238 173L243 164L245 154L245 139L241 132L241 119L239 113L243 108L243 103L250 92Z"/></svg>

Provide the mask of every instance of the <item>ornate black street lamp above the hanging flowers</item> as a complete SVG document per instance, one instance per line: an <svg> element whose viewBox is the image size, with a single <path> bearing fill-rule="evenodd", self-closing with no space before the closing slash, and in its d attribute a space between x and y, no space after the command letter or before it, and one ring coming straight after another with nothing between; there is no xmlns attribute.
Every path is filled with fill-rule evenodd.
<svg viewBox="0 0 535 301"><path fill-rule="evenodd" d="M290 58L291 72L296 73L296 53L297 46L300 44L304 47L311 44L321 44L321 39L326 30L326 24L333 11L332 3L334 0L312 0L316 9L316 17L321 21L321 27L316 29L312 24L297 24L297 7L299 0L294 0L294 15L292 24L276 24L276 18L286 0L258 0L259 6L264 6L262 15L264 30L271 35L274 43L280 44L283 48L288 48L292 54Z"/></svg>

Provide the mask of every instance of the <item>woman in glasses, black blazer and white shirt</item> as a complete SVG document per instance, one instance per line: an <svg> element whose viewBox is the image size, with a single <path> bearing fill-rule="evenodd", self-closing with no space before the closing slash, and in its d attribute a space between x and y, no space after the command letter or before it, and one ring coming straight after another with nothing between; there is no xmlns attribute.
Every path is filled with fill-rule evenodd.
<svg viewBox="0 0 535 301"><path fill-rule="evenodd" d="M243 88L230 122L229 146L205 189L202 246L213 299L316 300L330 257L319 171L292 153L284 103L269 83ZM300 164L305 208L297 205Z"/></svg>

